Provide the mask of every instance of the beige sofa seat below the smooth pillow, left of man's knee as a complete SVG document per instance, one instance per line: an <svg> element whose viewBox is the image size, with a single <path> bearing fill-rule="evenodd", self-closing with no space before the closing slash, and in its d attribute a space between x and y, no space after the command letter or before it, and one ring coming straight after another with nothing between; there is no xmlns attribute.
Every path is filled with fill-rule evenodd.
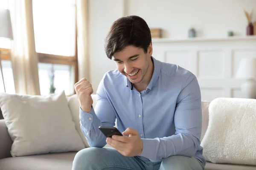
<svg viewBox="0 0 256 170"><path fill-rule="evenodd" d="M71 170L76 152L0 159L0 170Z"/></svg>

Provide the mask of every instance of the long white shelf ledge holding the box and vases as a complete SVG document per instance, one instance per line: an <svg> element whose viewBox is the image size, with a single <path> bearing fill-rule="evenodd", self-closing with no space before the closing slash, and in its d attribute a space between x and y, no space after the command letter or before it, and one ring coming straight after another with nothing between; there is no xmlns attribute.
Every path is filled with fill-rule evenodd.
<svg viewBox="0 0 256 170"><path fill-rule="evenodd" d="M244 41L244 40L255 40L256 41L256 35L252 36L244 36L244 37L227 37L227 38L201 38L201 37L195 37L195 38L187 38L187 39L169 39L169 38L152 38L153 43L175 43L175 42L212 42L212 41Z"/></svg>

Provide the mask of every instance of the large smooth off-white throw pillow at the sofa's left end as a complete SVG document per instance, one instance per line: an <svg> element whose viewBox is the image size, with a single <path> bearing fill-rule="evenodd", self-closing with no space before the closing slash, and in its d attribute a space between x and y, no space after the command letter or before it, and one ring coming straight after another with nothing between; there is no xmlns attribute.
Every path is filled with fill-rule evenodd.
<svg viewBox="0 0 256 170"><path fill-rule="evenodd" d="M0 94L0 108L13 141L13 157L84 148L64 91L49 96Z"/></svg>

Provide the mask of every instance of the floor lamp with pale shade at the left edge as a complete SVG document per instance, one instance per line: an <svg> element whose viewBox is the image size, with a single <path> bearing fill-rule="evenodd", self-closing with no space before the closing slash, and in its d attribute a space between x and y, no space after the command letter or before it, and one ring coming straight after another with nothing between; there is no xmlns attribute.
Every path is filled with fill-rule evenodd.
<svg viewBox="0 0 256 170"><path fill-rule="evenodd" d="M10 40L13 40L11 16L10 16L10 11L8 9L0 8L0 37L4 37L4 38L8 38ZM2 81L3 81L4 92L6 92L6 88L5 88L5 84L4 84L4 80L3 80L1 51L0 51L0 71L1 71Z"/></svg>

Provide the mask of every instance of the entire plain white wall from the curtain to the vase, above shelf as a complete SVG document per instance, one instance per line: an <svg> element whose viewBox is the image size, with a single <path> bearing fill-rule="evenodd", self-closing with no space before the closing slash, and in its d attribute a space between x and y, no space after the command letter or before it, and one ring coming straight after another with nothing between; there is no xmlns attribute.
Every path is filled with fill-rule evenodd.
<svg viewBox="0 0 256 170"><path fill-rule="evenodd" d="M190 26L199 37L223 38L229 30L245 35L244 9L253 9L256 20L256 0L89 0L90 82L94 92L103 74L115 69L105 55L104 39L117 18L139 15L149 27L162 28L163 36L170 39L186 38Z"/></svg>

